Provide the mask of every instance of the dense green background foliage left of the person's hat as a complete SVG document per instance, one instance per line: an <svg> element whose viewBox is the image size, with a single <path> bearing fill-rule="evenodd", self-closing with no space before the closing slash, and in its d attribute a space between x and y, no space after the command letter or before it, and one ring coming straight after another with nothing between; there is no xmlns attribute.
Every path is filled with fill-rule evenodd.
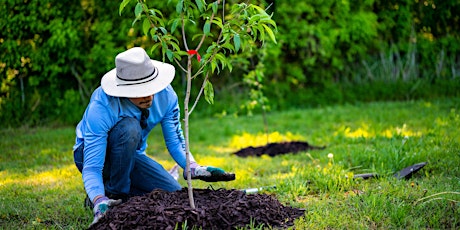
<svg viewBox="0 0 460 230"><path fill-rule="evenodd" d="M0 15L0 120L73 123L113 57L135 38L119 3L7 0ZM115 32L114 32L115 31ZM5 127L4 126L4 127Z"/></svg>

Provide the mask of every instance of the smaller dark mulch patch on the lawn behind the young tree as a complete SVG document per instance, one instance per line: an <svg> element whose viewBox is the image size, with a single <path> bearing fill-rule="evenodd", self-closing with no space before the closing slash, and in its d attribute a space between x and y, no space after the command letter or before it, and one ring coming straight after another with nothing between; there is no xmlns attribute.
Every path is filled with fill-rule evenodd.
<svg viewBox="0 0 460 230"><path fill-rule="evenodd" d="M313 146L308 142L292 141L292 142L280 142L280 143L269 143L265 146L253 147L249 146L235 152L234 154L240 157L257 156L260 157L263 154L267 154L271 157L286 153L297 153L300 151L324 149L325 146Z"/></svg>

